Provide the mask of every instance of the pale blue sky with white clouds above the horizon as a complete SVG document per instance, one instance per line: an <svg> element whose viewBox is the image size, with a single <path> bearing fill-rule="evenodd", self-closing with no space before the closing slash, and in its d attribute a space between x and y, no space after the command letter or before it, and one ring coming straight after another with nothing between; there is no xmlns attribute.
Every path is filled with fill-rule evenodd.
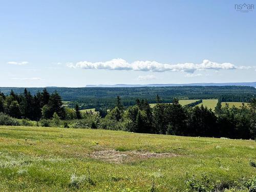
<svg viewBox="0 0 256 192"><path fill-rule="evenodd" d="M3 1L0 87L256 81L244 3Z"/></svg>

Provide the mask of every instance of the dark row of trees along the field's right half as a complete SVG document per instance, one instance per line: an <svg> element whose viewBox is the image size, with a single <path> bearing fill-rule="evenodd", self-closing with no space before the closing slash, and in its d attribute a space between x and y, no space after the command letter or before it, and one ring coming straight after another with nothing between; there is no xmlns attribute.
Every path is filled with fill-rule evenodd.
<svg viewBox="0 0 256 192"><path fill-rule="evenodd" d="M158 103L151 108L144 99L126 110L117 98L116 107L106 115L122 130L137 133L169 134L179 136L227 137L234 139L256 138L256 99L249 106L240 108L221 106L219 100L215 111L206 106L182 106L178 99L173 103ZM201 101L197 101L196 103ZM113 124L113 122L112 122Z"/></svg>

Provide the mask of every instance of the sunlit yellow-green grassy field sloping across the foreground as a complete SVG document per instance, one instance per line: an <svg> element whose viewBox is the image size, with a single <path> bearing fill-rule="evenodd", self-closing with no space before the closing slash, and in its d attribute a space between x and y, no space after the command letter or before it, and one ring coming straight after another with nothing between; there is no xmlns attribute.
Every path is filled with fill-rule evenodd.
<svg viewBox="0 0 256 192"><path fill-rule="evenodd" d="M255 175L256 142L122 131L0 126L1 191L185 191Z"/></svg>

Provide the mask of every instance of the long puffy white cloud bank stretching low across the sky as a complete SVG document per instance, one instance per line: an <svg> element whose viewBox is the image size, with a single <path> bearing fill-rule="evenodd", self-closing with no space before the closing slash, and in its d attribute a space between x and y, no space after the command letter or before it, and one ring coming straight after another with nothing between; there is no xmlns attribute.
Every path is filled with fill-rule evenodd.
<svg viewBox="0 0 256 192"><path fill-rule="evenodd" d="M80 61L75 65L67 63L67 67L75 69L104 69L104 70L132 70L132 71L151 71L151 72L187 72L194 73L197 70L233 70L245 69L245 66L234 66L232 63L217 63L203 60L202 63L178 63L175 65L159 63L157 61L134 61L129 63L124 59L117 58L105 62Z"/></svg>

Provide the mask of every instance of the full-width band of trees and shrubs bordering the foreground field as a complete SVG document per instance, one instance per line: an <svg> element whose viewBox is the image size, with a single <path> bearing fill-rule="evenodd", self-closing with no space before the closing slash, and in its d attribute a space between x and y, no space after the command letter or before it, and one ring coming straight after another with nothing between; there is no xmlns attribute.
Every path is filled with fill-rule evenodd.
<svg viewBox="0 0 256 192"><path fill-rule="evenodd" d="M198 106L201 99L182 106L177 98L168 104L157 95L157 104L153 108L147 99L137 98L134 102L134 105L125 107L121 97L117 96L112 109L81 113L78 104L74 109L63 106L56 91L50 94L44 89L32 95L27 89L19 94L11 90L9 95L0 92L0 125L91 127L181 136L256 138L255 98L248 106L243 104L240 108L230 108L227 104L223 107L220 98L214 111Z"/></svg>

